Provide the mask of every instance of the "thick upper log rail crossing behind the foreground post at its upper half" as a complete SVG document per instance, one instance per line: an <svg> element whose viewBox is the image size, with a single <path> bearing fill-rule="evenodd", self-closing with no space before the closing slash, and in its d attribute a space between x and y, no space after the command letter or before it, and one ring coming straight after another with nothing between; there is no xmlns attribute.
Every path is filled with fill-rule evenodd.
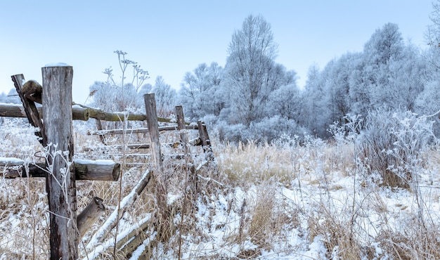
<svg viewBox="0 0 440 260"><path fill-rule="evenodd" d="M43 117L43 108L37 107L40 119ZM26 117L25 108L18 104L0 103L0 117ZM89 110L86 108L72 107L72 118L74 120L89 120Z"/></svg>

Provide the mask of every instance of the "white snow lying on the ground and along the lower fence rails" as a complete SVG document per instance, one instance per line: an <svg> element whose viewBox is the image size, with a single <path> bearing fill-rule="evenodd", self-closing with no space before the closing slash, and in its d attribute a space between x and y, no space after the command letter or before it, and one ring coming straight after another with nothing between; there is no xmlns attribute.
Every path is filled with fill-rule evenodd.
<svg viewBox="0 0 440 260"><path fill-rule="evenodd" d="M4 128L7 129L7 133L17 131L10 126L4 126ZM33 131L30 131L30 136L34 138ZM20 144L22 143L20 149L25 147L24 142ZM12 147L12 145L8 146L4 150L11 150ZM294 150L295 148L291 149ZM194 198L194 210L188 216L183 216L183 218L181 218L181 212L177 210L173 219L176 227L183 219L183 223L191 221L190 225L193 228L190 233L181 236L182 259L237 259L240 254L248 255L253 254L253 252L257 254L259 259L342 259L341 252L344 250L344 245L336 244L328 248L329 240L332 239L332 232L338 232L338 230L331 229L334 227L331 223L328 225L329 220L335 221L335 223L354 223L353 231L361 241L361 245L368 248L368 256L373 259L392 259L389 248L385 244L386 241L380 240L380 234L387 229L409 229L409 232L413 232L414 229L411 225L414 225L417 218L416 213L418 212L416 195L423 198L424 214L433 223L439 223L440 188L434 186L440 181L437 174L437 164L425 162L429 167L419 169L420 183L418 188L420 190L419 193L415 193L413 189L377 186L375 181L368 181L368 179L365 181L365 176L358 174L359 171L354 174L351 169L346 169L347 164L338 164L337 159L334 157L324 157L316 150L307 149L309 148L297 151L302 156L300 160L303 161L297 160L295 155L290 157L295 162L299 162L300 166L292 170L288 180L284 182L273 181L273 179L271 181L253 181L252 177L246 177L248 179L245 179L245 184L231 184L230 180L217 178L218 176L214 174L205 174L203 167L198 167L198 185L201 185L198 188L201 190L198 197ZM11 164L24 164L29 160L29 157L34 155L34 148L25 151L22 157L26 160L16 157L0 157L0 161L8 161ZM94 155L96 153L93 153ZM329 155L334 156L335 152L330 152ZM433 152L433 155L440 158L437 152ZM3 156L8 155L4 152ZM238 160L235 157L238 155L233 154L218 155L216 159L222 160L226 156ZM269 156L266 155L266 158ZM281 155L277 154L276 156ZM240 162L245 161L240 160ZM243 163L245 165L241 170L254 174L255 168L261 164L259 161L264 160L254 155L254 157L246 160L246 163ZM332 163L330 164L328 161L332 161ZM81 159L75 160L75 162L115 164L113 160ZM263 163L266 169L281 168L280 165L275 165L270 160ZM252 164L257 167L252 168ZM148 174L148 171L141 172L138 169L132 171L136 171L138 178L141 175L140 178L145 178L145 174ZM131 177L133 172L127 172L124 176ZM136 181L138 181L138 178L136 178ZM182 178L182 176L179 178ZM25 229L23 227L30 226L30 223L26 222L30 219L29 216L26 216L30 207L29 204L23 203L25 202L25 200L22 200L23 190L14 189L15 186L11 186L10 181L5 178L0 179L0 195L2 196L0 199L6 205L6 210L2 213L0 232L3 236L0 238L0 245L2 245L1 249L7 248L8 252L16 252L18 249L15 247L10 234L21 234L22 229ZM121 207L130 207L136 199L134 190L137 186L132 183L133 178L124 178L124 181L127 181L123 183L124 188L130 182L134 187L130 186L131 193L130 190L125 190L124 195L127 193L128 195L124 197L120 205ZM183 182L182 179L180 181ZM210 183L211 186L209 186L209 189L204 189L203 183ZM95 183L93 183L94 185ZM110 185L117 186L115 183ZM108 186L105 187L107 189ZM143 195L151 195L148 194L148 188L145 191ZM99 193L102 190L96 188L91 192ZM108 190L104 192L108 192ZM266 202L264 196L268 193L273 193L273 197L270 197L271 200L264 203L264 209L267 207L267 210L270 210L273 216L282 216L283 220L278 221L281 217L271 219L271 225L273 226L262 229L267 233L265 234L267 238L264 238L266 241L259 242L257 235L250 235L250 223L255 218L254 211L256 211L257 204L261 201ZM20 197L20 203L13 205L11 202L15 200L12 197L17 194ZM30 194L34 194L34 190ZM34 207L44 212L42 214L47 215L48 209L46 209L46 202L44 202L44 189L37 195L38 204ZM110 197L112 200L117 201L116 195L110 195ZM179 207L181 197L182 193L179 187L170 191L167 197L170 207L174 207L174 204ZM145 197L137 202L141 202L143 199ZM108 209L115 209L115 206L108 207ZM142 207L136 209L136 211L141 212L137 216L124 215L119 222L118 240L131 230L139 228L141 223L154 219L154 209L146 208L145 211L144 209ZM350 222L352 217L354 217L353 222ZM99 259L103 257L101 252L108 252L109 248L113 246L114 233L111 233L108 239L103 240L103 242L101 242L100 237L112 223L115 223L117 212L113 211L110 216L106 216L106 219L107 221L99 225L100 228L96 228L97 230L93 235L90 234L91 237L83 238L83 242L88 242L88 244L86 249L80 245L81 258ZM245 223L245 228L242 228L242 223ZM320 225L321 230L319 230ZM48 225L44 223L41 226L46 228ZM336 228L339 228L339 226L336 225ZM243 229L242 233L240 229ZM149 242L155 240L157 234L150 232L150 230L146 231L147 239L131 254L130 259L138 259L138 256L141 256ZM271 232L273 232L273 235L271 235ZM239 240L240 234L242 236ZM178 237L178 235L175 237ZM267 242L267 245L265 242ZM0 253L0 259L3 259L1 254L3 253ZM41 255L43 254L45 253ZM167 249L167 245L159 243L155 246L154 255L158 259L175 259L176 250ZM359 258L367 259L366 256L359 256Z"/></svg>

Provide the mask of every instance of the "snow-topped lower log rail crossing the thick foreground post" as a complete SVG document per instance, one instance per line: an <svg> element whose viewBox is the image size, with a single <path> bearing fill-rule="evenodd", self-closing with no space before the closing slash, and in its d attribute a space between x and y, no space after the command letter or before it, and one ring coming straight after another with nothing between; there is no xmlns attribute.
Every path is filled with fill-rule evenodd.
<svg viewBox="0 0 440 260"><path fill-rule="evenodd" d="M26 172L25 162L17 160L15 162L0 157L0 166L6 167L5 178L26 178L42 177L46 178L47 170L45 163L29 164L29 171ZM121 172L121 164L111 160L75 160L75 178L77 181L117 181Z"/></svg>

